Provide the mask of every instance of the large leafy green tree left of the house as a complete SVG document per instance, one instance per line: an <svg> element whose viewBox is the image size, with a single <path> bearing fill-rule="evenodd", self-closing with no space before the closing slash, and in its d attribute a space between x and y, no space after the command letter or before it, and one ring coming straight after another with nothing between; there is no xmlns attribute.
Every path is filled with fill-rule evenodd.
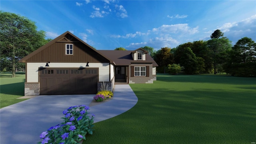
<svg viewBox="0 0 256 144"><path fill-rule="evenodd" d="M0 55L12 64L12 77L20 58L46 44L45 32L36 29L35 22L26 17L0 11Z"/></svg>

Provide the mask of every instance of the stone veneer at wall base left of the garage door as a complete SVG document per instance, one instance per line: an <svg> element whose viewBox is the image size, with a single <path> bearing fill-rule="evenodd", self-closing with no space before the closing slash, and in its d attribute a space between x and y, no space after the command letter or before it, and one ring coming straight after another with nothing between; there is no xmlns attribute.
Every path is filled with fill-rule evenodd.
<svg viewBox="0 0 256 144"><path fill-rule="evenodd" d="M24 96L39 96L40 83L39 82L25 82Z"/></svg>

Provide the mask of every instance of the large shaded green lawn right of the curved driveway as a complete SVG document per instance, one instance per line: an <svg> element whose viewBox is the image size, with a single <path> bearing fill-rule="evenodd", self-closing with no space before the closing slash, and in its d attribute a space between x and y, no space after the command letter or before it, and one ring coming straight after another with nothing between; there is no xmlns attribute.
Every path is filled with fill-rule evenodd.
<svg viewBox="0 0 256 144"><path fill-rule="evenodd" d="M138 103L95 123L84 144L251 144L256 142L256 78L158 74L130 84Z"/></svg>

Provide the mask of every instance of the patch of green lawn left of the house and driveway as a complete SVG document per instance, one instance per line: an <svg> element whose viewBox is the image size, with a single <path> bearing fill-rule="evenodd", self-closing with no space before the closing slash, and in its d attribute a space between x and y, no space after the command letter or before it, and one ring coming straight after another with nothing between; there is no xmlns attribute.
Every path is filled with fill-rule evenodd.
<svg viewBox="0 0 256 144"><path fill-rule="evenodd" d="M25 73L16 73L15 78L11 77L11 73L0 74L0 108L27 100L16 99L24 96Z"/></svg>

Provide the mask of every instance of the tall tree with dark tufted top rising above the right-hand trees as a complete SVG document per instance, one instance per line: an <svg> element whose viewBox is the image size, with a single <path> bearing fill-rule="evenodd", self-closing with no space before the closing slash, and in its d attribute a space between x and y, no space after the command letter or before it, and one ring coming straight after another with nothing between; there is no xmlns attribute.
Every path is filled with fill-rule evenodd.
<svg viewBox="0 0 256 144"><path fill-rule="evenodd" d="M217 65L222 65L226 62L228 51L231 49L231 41L223 36L224 34L220 30L215 30L211 35L211 40L208 40L207 45L210 48L210 56L214 66L214 74L217 74Z"/></svg>

